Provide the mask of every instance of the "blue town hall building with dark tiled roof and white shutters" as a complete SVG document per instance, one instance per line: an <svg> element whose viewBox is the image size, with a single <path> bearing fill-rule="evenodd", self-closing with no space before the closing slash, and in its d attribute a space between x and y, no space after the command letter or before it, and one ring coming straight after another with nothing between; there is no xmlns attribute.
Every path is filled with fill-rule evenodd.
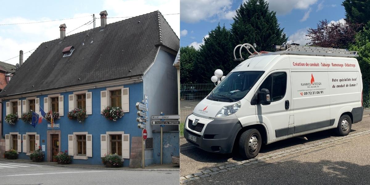
<svg viewBox="0 0 370 185"><path fill-rule="evenodd" d="M179 38L159 11L107 24L102 11L101 26L41 43L0 92L1 136L5 149L16 149L18 158L29 159L38 146L44 161L68 151L73 164L102 165L108 153L122 156L124 166L141 164L142 129L138 128L137 102L148 102L148 139L145 165L171 163L179 155L178 125L164 127L160 154L160 127L150 125L150 116L178 114L177 72L173 66ZM23 56L22 56L23 58ZM124 115L108 120L101 111L120 107ZM30 110L40 114L58 112L51 124L43 119L36 127L21 120ZM68 112L86 110L83 122L70 120ZM17 114L15 124L5 117Z"/></svg>

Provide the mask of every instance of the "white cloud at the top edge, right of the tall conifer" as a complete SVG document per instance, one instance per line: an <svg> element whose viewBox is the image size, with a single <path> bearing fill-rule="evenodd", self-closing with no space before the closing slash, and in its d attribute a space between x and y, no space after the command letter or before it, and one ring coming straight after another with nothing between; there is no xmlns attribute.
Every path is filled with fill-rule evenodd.
<svg viewBox="0 0 370 185"><path fill-rule="evenodd" d="M278 15L290 13L293 9L307 10L311 5L317 3L317 0L267 0L269 9L276 11Z"/></svg>

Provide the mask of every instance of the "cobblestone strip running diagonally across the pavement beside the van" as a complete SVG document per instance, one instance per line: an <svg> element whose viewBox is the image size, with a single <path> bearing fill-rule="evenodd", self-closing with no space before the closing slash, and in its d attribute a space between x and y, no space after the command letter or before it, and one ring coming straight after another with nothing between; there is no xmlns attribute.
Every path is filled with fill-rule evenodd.
<svg viewBox="0 0 370 185"><path fill-rule="evenodd" d="M240 168L242 166L249 166L249 165L259 163L259 162L265 162L265 161L268 161L268 160L271 160L271 159L284 157L284 156L290 155L290 154L295 154L297 152L302 152L302 151L310 150L310 149L313 149L313 148L322 147L324 145L329 145L329 144L333 144L333 143L337 143L337 142L342 142L343 140L354 138L354 137L359 137L359 136L366 135L366 134L370 134L370 130L357 132L357 133L354 133L354 134L349 134L349 135L346 135L346 136L343 136L343 137L328 139L328 140L325 140L325 141L319 141L319 142L316 142L314 144L300 146L300 147L292 148L292 149L287 149L285 151L276 152L276 153L273 153L273 154L264 155L264 156L261 156L261 157L256 157L256 158L245 160L245 161L229 163L229 164L226 164L224 166L213 167L213 168L207 169L205 171L197 172L197 173L186 175L186 176L180 176L180 183L195 181L196 179L216 175L216 174L219 174L219 173L222 173L222 172L226 172L226 171L230 171L230 170L233 170L233 169L236 169L236 168Z"/></svg>

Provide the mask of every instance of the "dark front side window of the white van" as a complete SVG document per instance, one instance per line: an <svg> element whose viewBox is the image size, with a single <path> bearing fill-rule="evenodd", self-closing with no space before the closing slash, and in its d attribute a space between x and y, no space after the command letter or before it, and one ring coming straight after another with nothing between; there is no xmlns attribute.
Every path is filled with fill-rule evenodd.
<svg viewBox="0 0 370 185"><path fill-rule="evenodd" d="M286 73L278 72L270 74L259 87L270 91L271 102L283 99L286 92Z"/></svg>

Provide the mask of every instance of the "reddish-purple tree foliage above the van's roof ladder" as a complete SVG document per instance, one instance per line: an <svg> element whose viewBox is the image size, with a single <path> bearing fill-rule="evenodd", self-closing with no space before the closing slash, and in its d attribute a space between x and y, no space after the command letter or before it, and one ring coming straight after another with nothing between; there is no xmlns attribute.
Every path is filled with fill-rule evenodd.
<svg viewBox="0 0 370 185"><path fill-rule="evenodd" d="M328 20L319 21L317 28L309 28L307 37L310 37L311 42L307 44L314 44L320 47L339 47L348 48L354 42L353 25L346 23L329 23Z"/></svg>

